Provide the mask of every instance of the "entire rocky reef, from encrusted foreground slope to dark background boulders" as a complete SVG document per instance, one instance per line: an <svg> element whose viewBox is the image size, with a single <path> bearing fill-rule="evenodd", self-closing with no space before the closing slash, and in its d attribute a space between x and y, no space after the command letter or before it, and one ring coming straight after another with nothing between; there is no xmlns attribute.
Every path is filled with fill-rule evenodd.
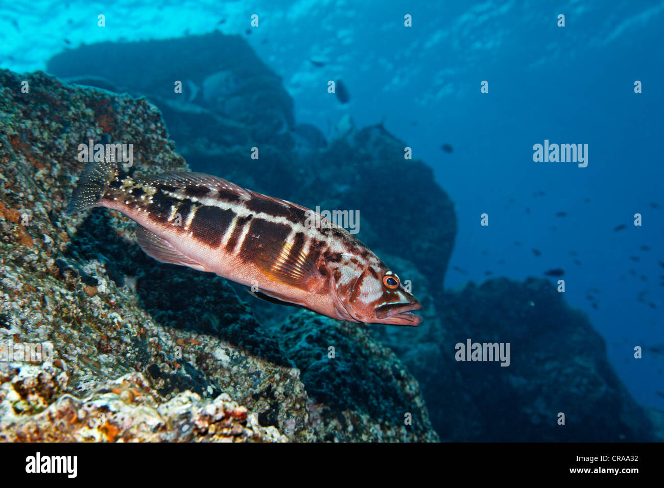
<svg viewBox="0 0 664 488"><path fill-rule="evenodd" d="M98 58L108 62L84 62ZM106 68L120 59L122 73ZM171 93L176 60L202 94ZM636 404L586 315L550 282L444 289L456 215L430 167L404 160L407 144L380 124L303 147L292 100L242 39L84 46L48 70L106 90L0 72L0 345L54 351L52 365L0 361L0 440L664 438L661 412ZM205 87L218 95L220 73L244 82L212 100ZM64 216L76 148L102 134L133 143L137 175L191 167L310 207L361 209L359 237L412 281L422 325L293 313L152 260L118 212ZM260 159L249 161L252 147ZM374 198L404 189L417 191L398 215ZM466 338L510 342L511 365L455 361Z"/></svg>

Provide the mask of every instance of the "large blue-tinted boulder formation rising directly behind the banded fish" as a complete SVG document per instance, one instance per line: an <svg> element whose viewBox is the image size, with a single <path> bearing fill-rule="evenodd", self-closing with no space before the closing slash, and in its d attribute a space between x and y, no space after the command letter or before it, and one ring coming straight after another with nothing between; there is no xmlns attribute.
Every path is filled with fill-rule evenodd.
<svg viewBox="0 0 664 488"><path fill-rule="evenodd" d="M107 62L99 64L99 57ZM122 70L116 69L119 64ZM457 226L454 204L432 169L418 159L404 159L407 144L382 124L356 130L349 122L343 137L325 146L321 134L311 133L315 127L299 130L280 78L242 37L211 33L92 44L54 56L48 72L147 96L195 171L308 208L358 210L361 240L381 258L384 253L407 257L435 285L431 294L442 296ZM206 85L215 73L230 74ZM194 86L174 92L174 80L185 76ZM194 93L198 85L209 85L208 90L214 85L221 102ZM224 104L230 102L229 111ZM305 152L296 147L301 133L311 144ZM257 159L250 157L253 147ZM406 270L394 271L408 279Z"/></svg>

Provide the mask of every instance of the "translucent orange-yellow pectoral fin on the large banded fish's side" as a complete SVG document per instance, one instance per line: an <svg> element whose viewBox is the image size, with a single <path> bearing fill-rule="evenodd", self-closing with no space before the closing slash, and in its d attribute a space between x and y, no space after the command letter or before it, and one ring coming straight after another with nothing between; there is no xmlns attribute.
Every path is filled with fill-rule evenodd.
<svg viewBox="0 0 664 488"><path fill-rule="evenodd" d="M309 289L309 282L321 277L314 262L301 250L293 252L290 242L266 244L263 252L255 259L260 270L270 280L295 288Z"/></svg>

